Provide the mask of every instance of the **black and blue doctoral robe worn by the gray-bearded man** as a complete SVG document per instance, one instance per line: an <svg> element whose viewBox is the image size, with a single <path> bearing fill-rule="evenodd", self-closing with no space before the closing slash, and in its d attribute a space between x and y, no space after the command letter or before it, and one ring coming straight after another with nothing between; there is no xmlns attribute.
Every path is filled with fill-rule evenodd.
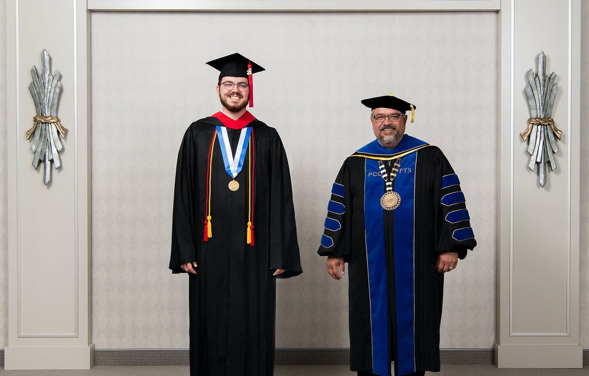
<svg viewBox="0 0 589 376"><path fill-rule="evenodd" d="M393 190L401 205L384 210L378 160L401 157ZM390 171L390 170L389 170ZM321 256L348 262L350 369L388 375L439 371L444 273L439 253L464 259L477 242L458 176L438 147L409 135L395 149L378 140L348 157L327 206Z"/></svg>

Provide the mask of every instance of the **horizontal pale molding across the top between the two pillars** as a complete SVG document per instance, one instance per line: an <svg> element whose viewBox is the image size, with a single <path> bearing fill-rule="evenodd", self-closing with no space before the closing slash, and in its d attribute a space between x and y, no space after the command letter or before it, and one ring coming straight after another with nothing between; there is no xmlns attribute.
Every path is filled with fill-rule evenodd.
<svg viewBox="0 0 589 376"><path fill-rule="evenodd" d="M87 0L90 11L395 12L499 11L501 0Z"/></svg>

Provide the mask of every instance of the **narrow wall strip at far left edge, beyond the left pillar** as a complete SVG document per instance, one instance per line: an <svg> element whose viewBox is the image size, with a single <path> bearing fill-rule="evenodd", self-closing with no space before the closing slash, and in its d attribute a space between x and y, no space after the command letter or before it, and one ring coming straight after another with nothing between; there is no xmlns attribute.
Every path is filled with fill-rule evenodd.
<svg viewBox="0 0 589 376"><path fill-rule="evenodd" d="M0 348L8 345L8 192L6 183L6 2L0 4Z"/></svg>

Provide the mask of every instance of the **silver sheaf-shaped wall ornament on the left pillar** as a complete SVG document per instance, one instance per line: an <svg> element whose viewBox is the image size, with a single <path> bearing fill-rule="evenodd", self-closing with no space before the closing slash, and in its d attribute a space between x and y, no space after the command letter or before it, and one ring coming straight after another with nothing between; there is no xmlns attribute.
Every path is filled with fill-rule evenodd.
<svg viewBox="0 0 589 376"><path fill-rule="evenodd" d="M41 52L41 62L40 74L37 67L33 65L31 68L32 82L29 84L29 91L37 116L33 117L33 126L25 132L25 136L28 140L34 135L31 144L31 151L35 154L32 164L37 170L39 162L44 161L43 183L47 185L51 182L51 164L53 163L56 170L61 167L59 152L64 148L61 138L65 137L68 130L59 123L57 117L61 73L56 70L55 74L51 74L51 57L47 50Z"/></svg>

